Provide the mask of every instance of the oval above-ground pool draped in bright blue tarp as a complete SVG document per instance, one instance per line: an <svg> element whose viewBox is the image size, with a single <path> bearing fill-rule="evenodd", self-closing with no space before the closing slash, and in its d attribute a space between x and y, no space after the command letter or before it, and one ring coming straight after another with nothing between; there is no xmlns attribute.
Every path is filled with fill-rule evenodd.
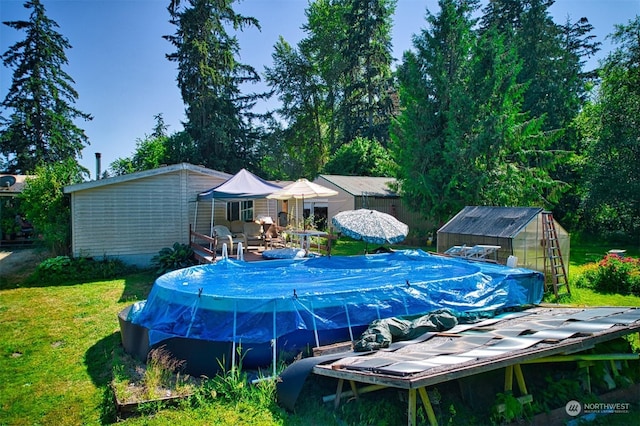
<svg viewBox="0 0 640 426"><path fill-rule="evenodd" d="M245 367L268 366L276 353L290 358L354 340L376 319L442 308L496 312L537 304L543 291L540 272L421 250L224 259L159 277L146 301L120 313L120 324L127 352L146 358L165 346L190 374L213 374L236 346Z"/></svg>

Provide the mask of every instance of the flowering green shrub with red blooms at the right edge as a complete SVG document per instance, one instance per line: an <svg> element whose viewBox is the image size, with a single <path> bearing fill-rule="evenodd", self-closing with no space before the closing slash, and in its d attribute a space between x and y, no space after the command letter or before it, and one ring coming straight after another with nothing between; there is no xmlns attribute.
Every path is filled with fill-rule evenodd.
<svg viewBox="0 0 640 426"><path fill-rule="evenodd" d="M587 268L576 285L603 293L640 296L640 259L609 254Z"/></svg>

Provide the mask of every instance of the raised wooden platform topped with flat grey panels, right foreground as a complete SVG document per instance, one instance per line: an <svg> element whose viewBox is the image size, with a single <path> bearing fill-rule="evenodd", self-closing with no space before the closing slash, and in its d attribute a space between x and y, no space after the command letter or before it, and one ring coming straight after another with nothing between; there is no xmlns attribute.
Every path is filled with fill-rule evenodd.
<svg viewBox="0 0 640 426"><path fill-rule="evenodd" d="M359 356L351 353L316 365L313 373L338 380L336 393L325 397L336 406L347 396L357 398L383 388L405 389L409 394L408 424L416 424L419 395L430 423L435 425L426 392L429 386L504 369L505 391L512 389L515 378L521 401L530 402L521 365L593 359L584 351L638 331L637 308L536 307L477 324L458 325L423 336L421 342L398 342L389 350ZM597 359L638 360L638 354L599 354ZM345 381L350 384L349 391L343 391Z"/></svg>

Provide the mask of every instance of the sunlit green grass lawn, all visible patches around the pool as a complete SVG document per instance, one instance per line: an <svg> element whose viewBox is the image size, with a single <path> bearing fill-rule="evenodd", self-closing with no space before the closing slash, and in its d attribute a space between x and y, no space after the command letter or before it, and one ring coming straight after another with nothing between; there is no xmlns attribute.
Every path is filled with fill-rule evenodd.
<svg viewBox="0 0 640 426"><path fill-rule="evenodd" d="M584 253L604 253L608 248L590 247ZM345 245L341 241L334 253L362 251L363 246L357 243ZM580 259L577 252L578 248L572 248L574 261ZM572 262L571 268L572 274L579 273L581 265ZM152 273L138 272L80 284L54 286L43 281L30 287L0 288L0 425L94 425L113 419L108 385L114 353L120 350L117 313L144 299L153 279ZM572 294L570 303L580 306L640 306L638 297L577 288L572 288ZM397 405L404 407L400 402ZM354 406L351 404L351 409ZM260 406L220 398L180 408L130 418L124 424L358 423L338 419L332 406L315 400L302 403L295 414L285 413L275 404Z"/></svg>

